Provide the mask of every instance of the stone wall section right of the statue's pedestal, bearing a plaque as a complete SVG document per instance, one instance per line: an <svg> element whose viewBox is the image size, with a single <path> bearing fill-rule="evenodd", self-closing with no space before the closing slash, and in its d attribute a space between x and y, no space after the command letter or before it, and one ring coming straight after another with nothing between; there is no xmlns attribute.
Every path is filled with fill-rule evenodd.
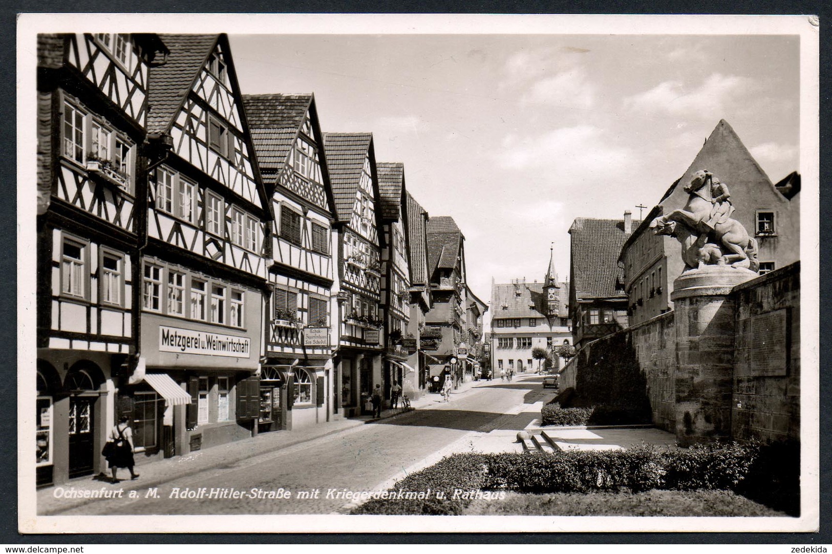
<svg viewBox="0 0 832 554"><path fill-rule="evenodd" d="M740 284L731 435L800 439L800 262Z"/></svg>

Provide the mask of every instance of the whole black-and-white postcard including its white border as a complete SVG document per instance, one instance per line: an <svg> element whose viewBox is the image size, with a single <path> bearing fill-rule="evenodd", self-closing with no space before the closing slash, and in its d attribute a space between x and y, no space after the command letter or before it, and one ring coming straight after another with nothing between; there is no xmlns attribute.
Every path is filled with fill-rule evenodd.
<svg viewBox="0 0 832 554"><path fill-rule="evenodd" d="M818 528L817 17L17 31L20 532Z"/></svg>

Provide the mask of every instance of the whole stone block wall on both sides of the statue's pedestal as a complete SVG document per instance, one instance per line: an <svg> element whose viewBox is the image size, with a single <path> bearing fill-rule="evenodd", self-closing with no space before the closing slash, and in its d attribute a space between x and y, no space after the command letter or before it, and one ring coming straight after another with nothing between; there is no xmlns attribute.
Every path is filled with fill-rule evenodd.
<svg viewBox="0 0 832 554"><path fill-rule="evenodd" d="M726 339L727 348L716 354L730 353L729 396L725 399L730 416L726 413L721 418L730 418L730 421L708 422L715 426L715 433L705 434L711 434L712 438L730 435L733 440L763 442L799 440L800 262L736 285L723 298L731 307L732 322L705 314L708 319L705 324L700 322L700 317L691 320L691 314L674 310L587 344L563 369L562 388L575 388L582 398L592 403L621 403L623 398L617 397L625 391L618 390L620 384L610 386L609 383L631 378L631 369L618 367L631 368L631 361L622 358L622 353L629 350L637 360L640 375L635 381L644 383L653 424L684 435L685 429L677 426L683 427L685 423L677 421L676 412L687 397L680 396L677 389L683 386L688 396L702 396L701 399L710 403L706 397L710 398L708 393L715 391L711 390L713 379L708 378L708 372L718 368L711 367L712 360L706 356L696 358L705 372L698 378L682 371L682 367L691 364L694 354L715 353L691 350L690 340L679 343L680 329L676 327L681 317L686 322L682 329L686 330L686 336L701 334L707 344ZM699 314L702 307L697 304L696 308ZM717 326L721 329L719 337L714 335ZM734 329L733 336L730 329ZM599 388L602 383L610 389ZM716 433L720 429L722 432Z"/></svg>

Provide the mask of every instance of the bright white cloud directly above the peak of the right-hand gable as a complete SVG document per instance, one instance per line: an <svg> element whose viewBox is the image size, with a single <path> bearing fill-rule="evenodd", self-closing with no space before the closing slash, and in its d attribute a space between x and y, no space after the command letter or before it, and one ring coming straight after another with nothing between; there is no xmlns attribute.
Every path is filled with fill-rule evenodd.
<svg viewBox="0 0 832 554"><path fill-rule="evenodd" d="M745 101L756 83L748 77L712 73L698 87L681 81L665 81L649 91L629 96L623 106L629 111L664 112L673 116L708 117L717 119L729 106Z"/></svg>

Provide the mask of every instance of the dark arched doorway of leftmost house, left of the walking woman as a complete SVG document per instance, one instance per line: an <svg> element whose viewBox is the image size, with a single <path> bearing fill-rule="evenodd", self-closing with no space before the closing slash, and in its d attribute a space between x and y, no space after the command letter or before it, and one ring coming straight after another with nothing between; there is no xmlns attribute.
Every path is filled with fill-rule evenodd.
<svg viewBox="0 0 832 554"><path fill-rule="evenodd" d="M95 408L98 400L96 371L92 367L73 368L64 379L69 393L69 477L93 472L95 462Z"/></svg>

